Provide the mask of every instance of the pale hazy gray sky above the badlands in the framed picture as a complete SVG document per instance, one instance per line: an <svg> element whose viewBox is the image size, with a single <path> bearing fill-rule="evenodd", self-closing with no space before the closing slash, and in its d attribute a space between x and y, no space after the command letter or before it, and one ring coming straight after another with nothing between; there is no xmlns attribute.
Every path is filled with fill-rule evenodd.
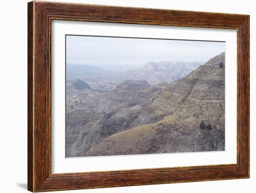
<svg viewBox="0 0 256 193"><path fill-rule="evenodd" d="M207 61L225 51L225 42L71 35L66 38L67 63L105 69L117 65L134 68L148 61Z"/></svg>

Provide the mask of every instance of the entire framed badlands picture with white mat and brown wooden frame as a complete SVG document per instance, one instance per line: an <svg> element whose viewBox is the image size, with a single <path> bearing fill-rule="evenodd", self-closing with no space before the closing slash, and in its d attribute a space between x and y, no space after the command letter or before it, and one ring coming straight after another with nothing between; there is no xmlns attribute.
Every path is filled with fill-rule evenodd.
<svg viewBox="0 0 256 193"><path fill-rule="evenodd" d="M249 15L28 3L28 190L249 178Z"/></svg>

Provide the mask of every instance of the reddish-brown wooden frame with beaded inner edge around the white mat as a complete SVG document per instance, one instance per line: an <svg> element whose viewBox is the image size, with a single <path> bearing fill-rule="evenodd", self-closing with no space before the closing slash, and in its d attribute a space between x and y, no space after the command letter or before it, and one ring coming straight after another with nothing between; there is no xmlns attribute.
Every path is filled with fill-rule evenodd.
<svg viewBox="0 0 256 193"><path fill-rule="evenodd" d="M237 164L51 173L52 20L236 29ZM29 191L249 178L249 15L32 1L27 44Z"/></svg>

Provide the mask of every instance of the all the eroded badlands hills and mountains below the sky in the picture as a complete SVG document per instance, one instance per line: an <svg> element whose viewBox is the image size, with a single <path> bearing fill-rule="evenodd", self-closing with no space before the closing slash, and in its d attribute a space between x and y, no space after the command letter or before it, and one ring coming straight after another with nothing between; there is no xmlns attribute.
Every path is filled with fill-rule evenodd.
<svg viewBox="0 0 256 193"><path fill-rule="evenodd" d="M126 71L66 66L66 157L225 150L225 53Z"/></svg>

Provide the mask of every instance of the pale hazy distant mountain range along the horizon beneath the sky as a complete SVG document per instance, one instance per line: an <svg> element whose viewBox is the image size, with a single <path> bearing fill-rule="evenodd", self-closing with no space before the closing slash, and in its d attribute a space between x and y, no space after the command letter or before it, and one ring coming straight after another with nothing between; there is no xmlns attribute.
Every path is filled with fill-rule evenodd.
<svg viewBox="0 0 256 193"><path fill-rule="evenodd" d="M174 82L195 70L203 64L202 61L183 62L183 61L161 61L148 62L142 67L123 72L104 70L99 67L88 65L67 64L67 78L83 79L85 76L101 76L102 74L115 74L116 83L125 80L145 80L150 85L160 84L162 82Z"/></svg>

